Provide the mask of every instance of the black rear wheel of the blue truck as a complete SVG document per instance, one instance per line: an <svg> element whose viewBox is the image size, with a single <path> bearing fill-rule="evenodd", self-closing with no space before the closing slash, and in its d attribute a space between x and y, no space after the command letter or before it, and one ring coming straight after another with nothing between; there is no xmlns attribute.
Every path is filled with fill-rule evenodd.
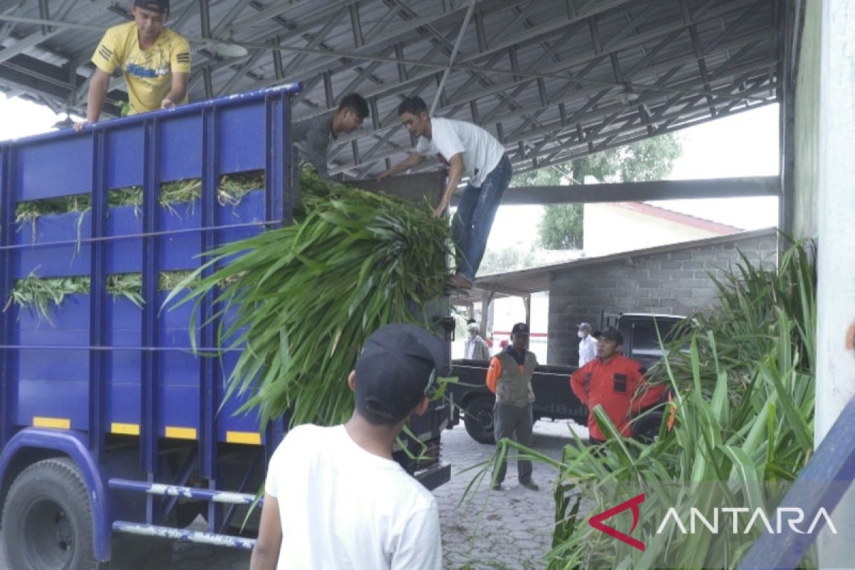
<svg viewBox="0 0 855 570"><path fill-rule="evenodd" d="M97 567L88 495L80 470L67 457L24 469L9 487L3 507L3 546L11 567Z"/></svg>

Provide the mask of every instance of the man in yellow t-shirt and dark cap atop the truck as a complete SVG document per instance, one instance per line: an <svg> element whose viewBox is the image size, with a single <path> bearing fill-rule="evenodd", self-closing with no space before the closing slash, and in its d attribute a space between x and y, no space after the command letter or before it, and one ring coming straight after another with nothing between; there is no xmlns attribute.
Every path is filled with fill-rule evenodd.
<svg viewBox="0 0 855 570"><path fill-rule="evenodd" d="M165 26L169 0L134 0L133 21L113 26L92 55L86 123L97 122L117 68L127 81L130 115L172 109L187 101L190 44ZM75 126L78 130L84 124Z"/></svg>

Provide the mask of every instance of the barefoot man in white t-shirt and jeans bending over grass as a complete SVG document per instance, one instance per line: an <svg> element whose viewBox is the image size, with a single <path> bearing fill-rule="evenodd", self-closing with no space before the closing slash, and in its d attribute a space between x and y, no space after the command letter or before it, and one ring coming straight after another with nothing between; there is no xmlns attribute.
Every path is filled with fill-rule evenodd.
<svg viewBox="0 0 855 570"><path fill-rule="evenodd" d="M463 176L469 177L452 220L454 240L462 259L450 283L471 289L513 167L504 154L504 146L489 132L463 120L431 117L421 97L404 99L398 105L398 115L407 130L419 138L418 143L410 156L380 174L380 179L421 164L425 156L438 156L440 162L449 166L445 193L436 208L439 216L448 208Z"/></svg>

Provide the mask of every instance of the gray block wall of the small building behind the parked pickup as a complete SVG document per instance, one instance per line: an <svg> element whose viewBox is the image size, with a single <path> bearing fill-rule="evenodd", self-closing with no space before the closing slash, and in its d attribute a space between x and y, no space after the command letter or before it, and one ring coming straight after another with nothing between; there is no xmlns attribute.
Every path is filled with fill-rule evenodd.
<svg viewBox="0 0 855 570"><path fill-rule="evenodd" d="M740 261L739 251L752 264L777 261L777 237L766 232L685 250L623 257L587 263L553 274L549 296L550 364L579 361L576 325L587 321L596 329L600 311L606 313L692 314L709 311L717 290L710 273Z"/></svg>

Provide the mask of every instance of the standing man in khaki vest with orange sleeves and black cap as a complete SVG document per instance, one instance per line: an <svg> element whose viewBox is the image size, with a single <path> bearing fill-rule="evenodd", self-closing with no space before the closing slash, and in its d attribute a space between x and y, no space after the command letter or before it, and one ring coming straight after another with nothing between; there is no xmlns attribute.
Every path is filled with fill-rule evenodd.
<svg viewBox="0 0 855 570"><path fill-rule="evenodd" d="M486 387L496 395L493 408L493 434L496 444L502 438L513 439L519 444L532 444L532 375L537 366L534 353L526 350L528 345L528 325L516 323L510 331L511 344L498 355L492 357L486 373ZM508 469L507 461L502 461L498 471L493 473L493 489L500 491L504 474ZM532 480L532 462L516 460L516 473L520 485L538 491L540 487Z"/></svg>

